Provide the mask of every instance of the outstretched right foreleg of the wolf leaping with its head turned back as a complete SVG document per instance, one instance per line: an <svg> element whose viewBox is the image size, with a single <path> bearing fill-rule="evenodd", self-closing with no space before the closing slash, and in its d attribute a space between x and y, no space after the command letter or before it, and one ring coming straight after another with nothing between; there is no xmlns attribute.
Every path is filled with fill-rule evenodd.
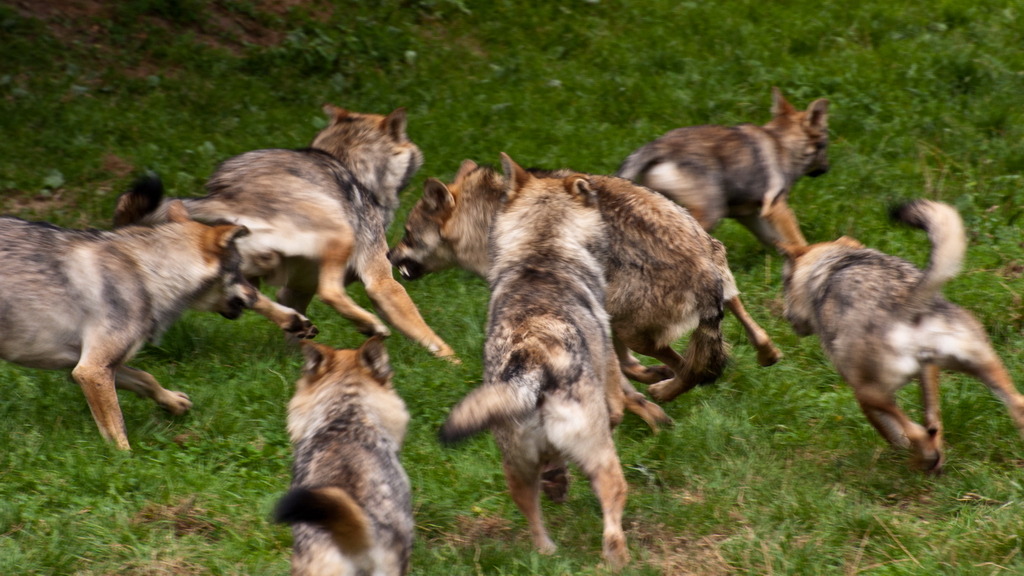
<svg viewBox="0 0 1024 576"><path fill-rule="evenodd" d="M399 332L419 342L434 356L451 357L451 360L457 362L452 346L427 326L409 293L391 276L391 262L388 261L386 252L387 247L375 252L360 274L367 295L373 300L374 306Z"/></svg>

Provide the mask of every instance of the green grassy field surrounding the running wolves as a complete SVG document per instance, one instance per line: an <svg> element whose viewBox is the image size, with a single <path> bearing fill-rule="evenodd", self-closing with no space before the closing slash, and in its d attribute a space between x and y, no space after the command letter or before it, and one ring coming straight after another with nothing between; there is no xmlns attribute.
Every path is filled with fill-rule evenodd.
<svg viewBox="0 0 1024 576"><path fill-rule="evenodd" d="M325 101L409 110L427 176L464 158L613 172L678 126L769 119L770 87L831 101L831 171L792 204L810 241L847 234L927 261L886 207L955 205L970 234L946 295L985 324L1024 383L1024 2L792 0L0 0L0 208L109 228L133 174L201 195L216 164L308 145ZM780 260L731 221L715 231L751 314L785 358L759 368L731 318L733 361L666 406L658 435L617 429L630 483L625 574L1024 572L1024 443L979 382L944 376L946 474L888 448L818 347L781 317ZM479 382L487 290L449 271L407 284L461 365L388 342L412 413L402 459L415 574L591 574L601 520L579 474L544 504L559 551L531 551L493 440L442 449L447 408ZM369 305L358 287L356 299ZM319 341L362 337L321 302ZM45 327L40 327L45 329ZM680 342L679 345L683 345ZM0 366L0 574L286 574L268 523L290 480L285 405L300 358L247 314L187 314L133 365L186 392L174 417L121 397L131 453L104 445L61 372ZM915 386L901 395L915 416Z"/></svg>

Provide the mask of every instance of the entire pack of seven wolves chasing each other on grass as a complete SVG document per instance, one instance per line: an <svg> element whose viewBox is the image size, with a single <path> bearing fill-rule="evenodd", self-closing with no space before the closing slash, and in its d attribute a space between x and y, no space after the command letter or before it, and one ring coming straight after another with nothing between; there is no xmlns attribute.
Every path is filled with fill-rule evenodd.
<svg viewBox="0 0 1024 576"><path fill-rule="evenodd" d="M389 249L399 193L423 164L406 112L328 105L328 126L309 148L230 158L206 197L166 198L159 177L140 177L119 197L112 231L0 218L0 358L70 368L102 437L130 449L117 389L174 414L191 407L128 367L133 355L186 308L229 319L255 311L304 358L288 405L293 481L273 512L292 525L292 573L406 574L414 519L399 453L410 414L392 382L389 326L458 359L392 266L407 281L470 271L490 290L482 382L451 409L438 439L494 434L509 493L545 553L555 543L541 493L564 501L575 464L600 502L602 556L617 569L629 561L628 485L612 431L625 412L656 431L672 421L658 403L714 382L728 361L726 311L761 366L782 356L746 313L725 247L709 234L729 217L783 255L783 315L797 334L816 334L871 425L938 474L940 369L984 382L1022 435L1024 396L984 327L942 296L967 249L952 207L914 200L892 210L927 233L925 270L852 238L804 239L787 198L801 176L828 170L827 109L820 98L798 110L773 88L764 126L678 128L630 154L615 175L526 169L504 153L500 171L465 160L453 181L426 180ZM261 282L276 287L276 301ZM348 295L353 282L376 315ZM305 316L313 296L366 342L315 343ZM673 344L685 334L680 354ZM923 424L896 403L913 379Z"/></svg>

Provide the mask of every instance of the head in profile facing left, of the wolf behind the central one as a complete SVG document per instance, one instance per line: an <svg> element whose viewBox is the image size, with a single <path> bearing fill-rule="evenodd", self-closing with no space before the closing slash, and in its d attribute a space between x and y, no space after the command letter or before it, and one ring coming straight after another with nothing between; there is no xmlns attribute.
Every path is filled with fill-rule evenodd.
<svg viewBox="0 0 1024 576"><path fill-rule="evenodd" d="M449 184L427 178L388 259L406 280L455 265L485 276L487 231L504 187L501 174L472 160L463 161Z"/></svg>

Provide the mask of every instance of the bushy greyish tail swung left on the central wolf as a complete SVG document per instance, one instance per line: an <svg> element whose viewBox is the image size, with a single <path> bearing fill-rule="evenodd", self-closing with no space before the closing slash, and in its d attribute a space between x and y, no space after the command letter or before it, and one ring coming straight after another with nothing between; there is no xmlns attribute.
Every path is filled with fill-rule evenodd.
<svg viewBox="0 0 1024 576"><path fill-rule="evenodd" d="M452 409L438 438L443 444L454 444L494 424L524 417L537 407L537 398L525 394L527 389L506 383L481 385Z"/></svg>

